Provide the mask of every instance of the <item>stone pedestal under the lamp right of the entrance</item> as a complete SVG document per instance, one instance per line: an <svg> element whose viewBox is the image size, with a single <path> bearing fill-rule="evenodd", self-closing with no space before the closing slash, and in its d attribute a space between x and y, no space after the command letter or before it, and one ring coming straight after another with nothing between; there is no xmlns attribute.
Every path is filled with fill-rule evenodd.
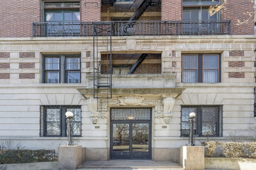
<svg viewBox="0 0 256 170"><path fill-rule="evenodd" d="M180 147L180 164L185 170L204 170L204 147Z"/></svg>

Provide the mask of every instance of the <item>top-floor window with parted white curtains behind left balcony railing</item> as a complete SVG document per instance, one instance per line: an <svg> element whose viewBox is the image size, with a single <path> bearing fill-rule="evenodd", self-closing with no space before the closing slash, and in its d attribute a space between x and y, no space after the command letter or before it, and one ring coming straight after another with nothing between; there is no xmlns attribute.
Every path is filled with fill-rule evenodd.
<svg viewBox="0 0 256 170"><path fill-rule="evenodd" d="M49 36L80 35L80 2L44 2L44 21Z"/></svg>

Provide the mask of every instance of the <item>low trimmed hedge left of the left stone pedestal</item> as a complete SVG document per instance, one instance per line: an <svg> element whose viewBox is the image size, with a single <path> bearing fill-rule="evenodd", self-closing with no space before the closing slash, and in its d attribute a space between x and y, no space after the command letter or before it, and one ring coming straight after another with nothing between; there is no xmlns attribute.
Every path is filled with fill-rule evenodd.
<svg viewBox="0 0 256 170"><path fill-rule="evenodd" d="M7 149L0 150L0 163L15 164L56 161L55 150Z"/></svg>

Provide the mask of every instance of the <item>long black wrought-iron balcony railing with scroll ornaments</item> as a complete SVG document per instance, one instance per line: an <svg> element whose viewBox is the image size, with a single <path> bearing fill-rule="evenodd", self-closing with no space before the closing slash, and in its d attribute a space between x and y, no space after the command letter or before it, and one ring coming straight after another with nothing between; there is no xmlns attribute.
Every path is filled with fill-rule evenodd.
<svg viewBox="0 0 256 170"><path fill-rule="evenodd" d="M107 23L107 24L106 24ZM33 23L32 37L93 36L93 22ZM231 35L230 20L222 21L102 21L97 35ZM106 33L106 31L108 33Z"/></svg>

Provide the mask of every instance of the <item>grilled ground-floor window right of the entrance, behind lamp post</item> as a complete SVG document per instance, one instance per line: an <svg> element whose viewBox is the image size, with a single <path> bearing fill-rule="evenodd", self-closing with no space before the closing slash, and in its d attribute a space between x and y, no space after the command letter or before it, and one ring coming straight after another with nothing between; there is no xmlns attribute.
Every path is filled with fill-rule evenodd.
<svg viewBox="0 0 256 170"><path fill-rule="evenodd" d="M180 136L188 137L190 132L189 113L196 113L194 134L198 137L222 137L222 106L181 106Z"/></svg>

